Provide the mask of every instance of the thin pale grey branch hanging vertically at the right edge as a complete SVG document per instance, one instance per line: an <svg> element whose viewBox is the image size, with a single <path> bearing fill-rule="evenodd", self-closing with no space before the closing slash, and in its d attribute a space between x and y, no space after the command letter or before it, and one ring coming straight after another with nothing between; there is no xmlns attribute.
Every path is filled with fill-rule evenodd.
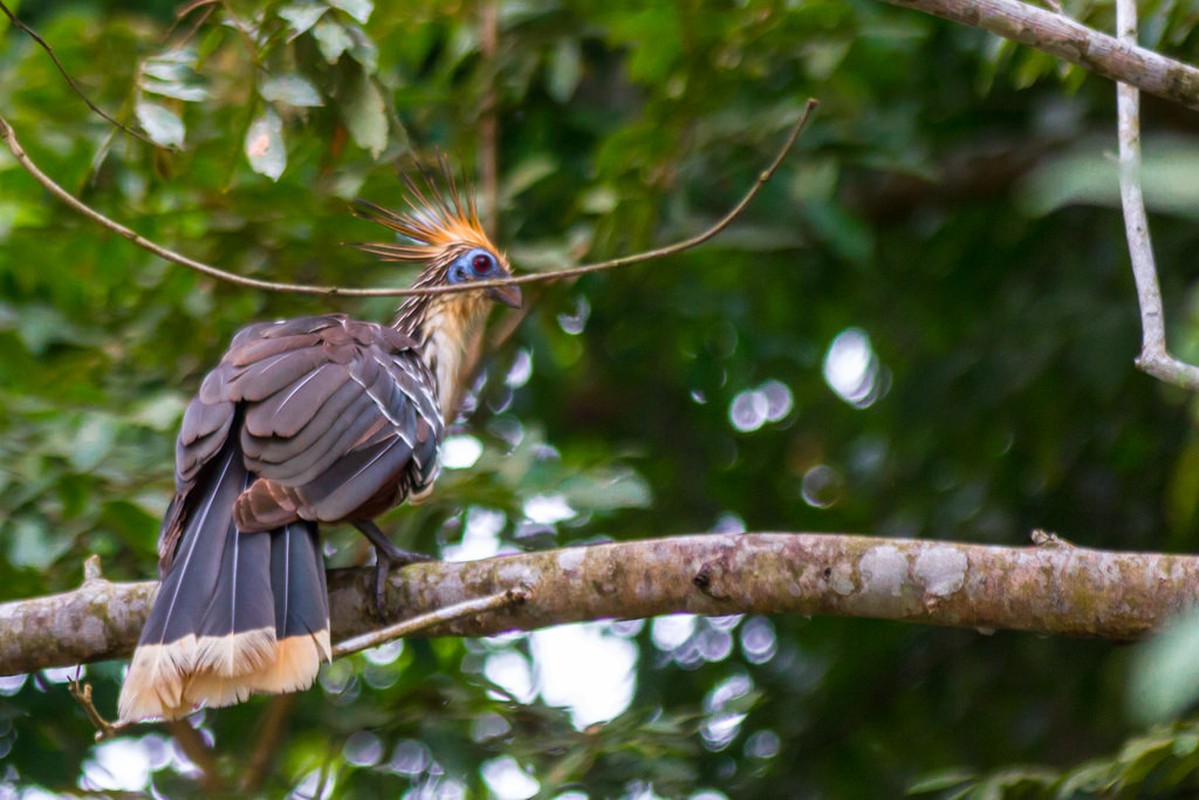
<svg viewBox="0 0 1199 800"><path fill-rule="evenodd" d="M1137 2L1116 0L1116 34L1127 46L1137 43ZM1179 361L1165 348L1165 314L1157 282L1149 216L1140 188L1140 92L1127 83L1116 84L1120 132L1120 203L1123 207L1128 255L1140 303L1140 355L1137 366L1158 380L1199 390L1199 367Z"/></svg>

